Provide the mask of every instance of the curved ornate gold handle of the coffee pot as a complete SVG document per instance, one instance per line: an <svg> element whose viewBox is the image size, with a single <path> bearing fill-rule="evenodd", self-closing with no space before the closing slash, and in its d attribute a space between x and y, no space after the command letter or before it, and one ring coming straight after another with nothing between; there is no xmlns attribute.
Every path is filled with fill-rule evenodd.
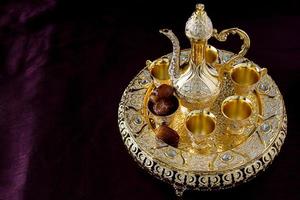
<svg viewBox="0 0 300 200"><path fill-rule="evenodd" d="M250 38L245 31L238 28L224 29L220 33L218 33L217 29L213 30L213 37L220 42L225 42L229 34L238 34L240 39L243 40L243 45L241 46L240 52L232 56L224 63L224 66L231 68L231 65L234 63L234 61L246 55L248 49L250 48Z"/></svg>

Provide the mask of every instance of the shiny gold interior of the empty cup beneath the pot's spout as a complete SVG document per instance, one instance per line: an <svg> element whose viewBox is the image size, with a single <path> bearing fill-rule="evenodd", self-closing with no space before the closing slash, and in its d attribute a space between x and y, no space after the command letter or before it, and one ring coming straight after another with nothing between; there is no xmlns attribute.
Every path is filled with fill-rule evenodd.
<svg viewBox="0 0 300 200"><path fill-rule="evenodd" d="M169 59L163 58L152 63L151 75L158 80L168 80L170 79L169 75Z"/></svg>

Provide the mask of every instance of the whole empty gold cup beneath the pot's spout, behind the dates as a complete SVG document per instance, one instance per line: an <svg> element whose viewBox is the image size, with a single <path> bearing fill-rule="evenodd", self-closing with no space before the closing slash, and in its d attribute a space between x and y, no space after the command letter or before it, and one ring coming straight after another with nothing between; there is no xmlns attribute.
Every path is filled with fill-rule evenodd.
<svg viewBox="0 0 300 200"><path fill-rule="evenodd" d="M162 84L171 85L169 65L170 61L168 58L159 58L149 64L148 69L156 87Z"/></svg>

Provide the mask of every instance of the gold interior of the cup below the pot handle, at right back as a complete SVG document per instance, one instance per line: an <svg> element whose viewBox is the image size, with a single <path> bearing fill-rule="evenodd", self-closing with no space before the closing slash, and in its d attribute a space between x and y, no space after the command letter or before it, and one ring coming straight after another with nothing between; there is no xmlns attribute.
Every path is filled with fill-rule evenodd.
<svg viewBox="0 0 300 200"><path fill-rule="evenodd" d="M231 72L231 79L243 86L250 86L259 81L259 73L253 67L240 66L236 67Z"/></svg>

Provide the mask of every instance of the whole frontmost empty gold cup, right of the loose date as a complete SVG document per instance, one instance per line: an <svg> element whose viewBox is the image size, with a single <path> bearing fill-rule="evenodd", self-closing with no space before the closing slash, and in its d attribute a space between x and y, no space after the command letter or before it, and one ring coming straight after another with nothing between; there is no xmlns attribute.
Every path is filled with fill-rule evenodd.
<svg viewBox="0 0 300 200"><path fill-rule="evenodd" d="M207 139L216 129L216 117L209 111L194 110L188 114L185 127L192 146L197 149L206 148Z"/></svg>

